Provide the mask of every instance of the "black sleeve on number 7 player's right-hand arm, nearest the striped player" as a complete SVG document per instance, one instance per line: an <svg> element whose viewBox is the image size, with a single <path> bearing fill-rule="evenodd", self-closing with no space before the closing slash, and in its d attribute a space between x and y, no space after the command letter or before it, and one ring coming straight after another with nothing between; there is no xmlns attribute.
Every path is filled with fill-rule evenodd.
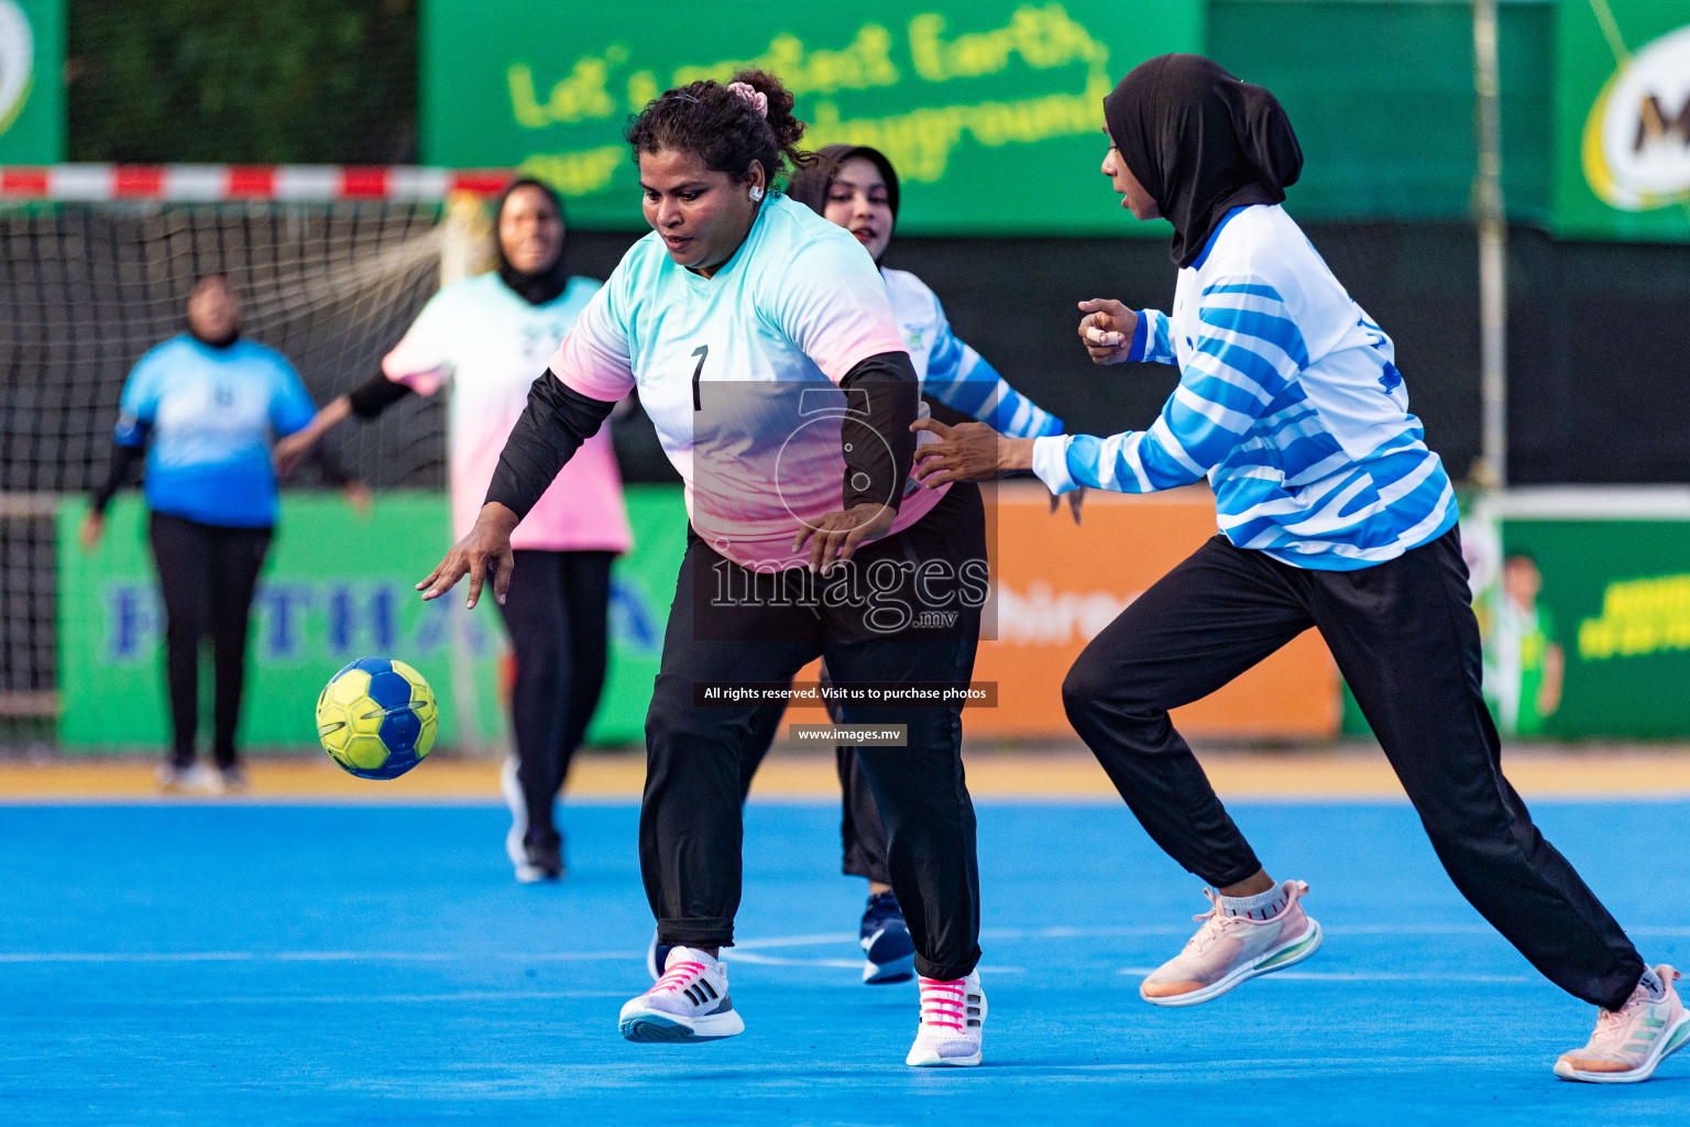
<svg viewBox="0 0 1690 1127"><path fill-rule="evenodd" d="M904 482L916 460L916 434L909 424L921 404L921 382L909 353L869 357L845 373L840 389L850 407L840 421L845 509L875 504L896 510L904 502ZM862 399L869 400L867 411L862 411Z"/></svg>

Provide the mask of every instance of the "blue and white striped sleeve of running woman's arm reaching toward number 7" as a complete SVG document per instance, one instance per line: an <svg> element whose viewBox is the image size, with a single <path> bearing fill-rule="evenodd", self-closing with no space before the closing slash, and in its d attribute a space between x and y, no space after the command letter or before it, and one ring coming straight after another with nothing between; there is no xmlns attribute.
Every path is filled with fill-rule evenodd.
<svg viewBox="0 0 1690 1127"><path fill-rule="evenodd" d="M1146 336L1166 335L1161 321ZM1033 471L1051 492L1087 485L1151 493L1190 485L1225 460L1308 367L1296 321L1279 292L1259 279L1217 279L1202 294L1198 324L1180 385L1148 431L1034 439Z"/></svg>

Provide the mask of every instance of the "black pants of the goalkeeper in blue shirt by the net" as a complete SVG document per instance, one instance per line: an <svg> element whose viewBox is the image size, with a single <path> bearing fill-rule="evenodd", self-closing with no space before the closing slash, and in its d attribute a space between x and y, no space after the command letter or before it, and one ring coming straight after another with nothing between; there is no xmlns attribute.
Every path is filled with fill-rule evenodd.
<svg viewBox="0 0 1690 1127"><path fill-rule="evenodd" d="M211 750L235 762L235 727L247 679L247 627L270 529L228 529L152 514L152 558L164 591L164 672L171 686L171 762L194 762L199 723L199 642L211 635L216 696Z"/></svg>

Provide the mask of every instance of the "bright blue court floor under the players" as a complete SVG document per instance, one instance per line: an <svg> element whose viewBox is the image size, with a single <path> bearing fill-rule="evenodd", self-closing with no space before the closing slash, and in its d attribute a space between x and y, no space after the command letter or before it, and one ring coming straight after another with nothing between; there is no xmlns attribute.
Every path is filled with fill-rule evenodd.
<svg viewBox="0 0 1690 1127"><path fill-rule="evenodd" d="M1690 963L1690 804L1538 804L1651 961ZM3 1124L1690 1124L1690 1053L1555 1080L1595 1010L1538 978L1408 806L1234 806L1325 948L1207 1005L1137 975L1207 907L1120 806L982 806L985 1066L902 1064L859 985L837 808L747 811L747 1031L629 1044L651 917L634 806L571 806L521 887L500 809L0 809Z"/></svg>

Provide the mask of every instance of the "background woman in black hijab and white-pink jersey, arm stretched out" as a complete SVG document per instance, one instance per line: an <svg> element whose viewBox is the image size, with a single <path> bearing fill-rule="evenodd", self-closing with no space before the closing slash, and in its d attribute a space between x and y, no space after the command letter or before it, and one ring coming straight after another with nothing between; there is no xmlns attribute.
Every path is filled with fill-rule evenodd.
<svg viewBox="0 0 1690 1127"><path fill-rule="evenodd" d="M451 524L455 536L470 531L534 372L544 370L598 292L597 280L564 269L563 204L551 188L519 179L505 188L495 215L499 269L434 294L382 360L382 372L323 407L306 431L279 446L279 458L296 458L348 416L372 419L411 392L433 395L450 385ZM521 566L504 603L515 657L505 852L522 882L563 875L554 804L598 706L610 563L629 544L610 434L595 434L512 536Z"/></svg>

